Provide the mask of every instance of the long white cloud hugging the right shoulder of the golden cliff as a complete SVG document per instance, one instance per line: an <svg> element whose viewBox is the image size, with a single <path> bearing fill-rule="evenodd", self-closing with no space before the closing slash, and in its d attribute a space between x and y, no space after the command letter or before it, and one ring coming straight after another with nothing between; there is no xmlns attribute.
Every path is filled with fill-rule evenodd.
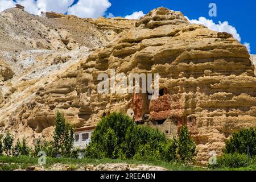
<svg viewBox="0 0 256 182"><path fill-rule="evenodd" d="M241 37L237 33L237 30L235 27L231 26L229 22L218 22L218 24L214 23L213 20L211 19L206 19L204 17L200 17L198 20L196 19L189 19L187 16L186 18L190 23L195 23L195 24L204 24L205 27L209 28L210 30L213 31L218 31L218 32L228 32L229 34L232 34L235 39L241 42Z"/></svg>

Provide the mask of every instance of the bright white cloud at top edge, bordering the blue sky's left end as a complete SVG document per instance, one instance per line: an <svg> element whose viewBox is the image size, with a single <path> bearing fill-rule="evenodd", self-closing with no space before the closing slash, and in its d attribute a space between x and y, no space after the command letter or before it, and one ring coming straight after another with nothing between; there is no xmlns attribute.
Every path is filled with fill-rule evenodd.
<svg viewBox="0 0 256 182"><path fill-rule="evenodd" d="M110 6L109 0L79 0L76 5L69 7L68 14L81 18L98 18L103 16Z"/></svg>

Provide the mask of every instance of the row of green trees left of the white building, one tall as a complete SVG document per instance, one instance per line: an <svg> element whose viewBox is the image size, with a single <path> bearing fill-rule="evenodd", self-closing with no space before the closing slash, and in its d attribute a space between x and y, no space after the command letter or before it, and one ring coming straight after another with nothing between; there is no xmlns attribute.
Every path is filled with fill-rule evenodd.
<svg viewBox="0 0 256 182"><path fill-rule="evenodd" d="M5 136L0 136L0 155L9 156L38 156L40 151L45 151L47 156L55 158L57 154L67 158L77 158L79 150L73 149L73 127L65 121L64 115L59 111L55 118L55 131L53 133L53 140L46 141L37 139L34 149L28 147L26 138L19 139L14 144L14 137L9 131Z"/></svg>

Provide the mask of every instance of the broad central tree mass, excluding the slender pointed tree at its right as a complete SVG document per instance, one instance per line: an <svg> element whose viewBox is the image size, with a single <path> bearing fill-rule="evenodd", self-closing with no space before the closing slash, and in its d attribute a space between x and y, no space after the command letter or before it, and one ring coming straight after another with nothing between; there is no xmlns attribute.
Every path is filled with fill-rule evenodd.
<svg viewBox="0 0 256 182"><path fill-rule="evenodd" d="M132 159L143 156L162 159L168 139L157 129L137 126L120 113L101 119L85 150L88 158Z"/></svg>

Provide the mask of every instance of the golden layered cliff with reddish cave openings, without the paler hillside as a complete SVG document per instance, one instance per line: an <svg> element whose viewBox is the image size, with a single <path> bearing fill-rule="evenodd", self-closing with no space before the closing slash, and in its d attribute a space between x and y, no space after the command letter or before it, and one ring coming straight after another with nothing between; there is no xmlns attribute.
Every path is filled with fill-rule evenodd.
<svg viewBox="0 0 256 182"><path fill-rule="evenodd" d="M163 94L151 101L147 94L100 94L97 77L110 69L125 75L158 73ZM11 120L39 134L54 125L56 110L77 127L94 126L113 111L134 111L134 121L144 125L159 127L168 119L175 125L170 130L164 125L170 136L188 125L197 159L206 163L209 151L221 154L230 134L255 126L255 91L245 46L230 34L190 24L182 13L160 7L38 89Z"/></svg>

